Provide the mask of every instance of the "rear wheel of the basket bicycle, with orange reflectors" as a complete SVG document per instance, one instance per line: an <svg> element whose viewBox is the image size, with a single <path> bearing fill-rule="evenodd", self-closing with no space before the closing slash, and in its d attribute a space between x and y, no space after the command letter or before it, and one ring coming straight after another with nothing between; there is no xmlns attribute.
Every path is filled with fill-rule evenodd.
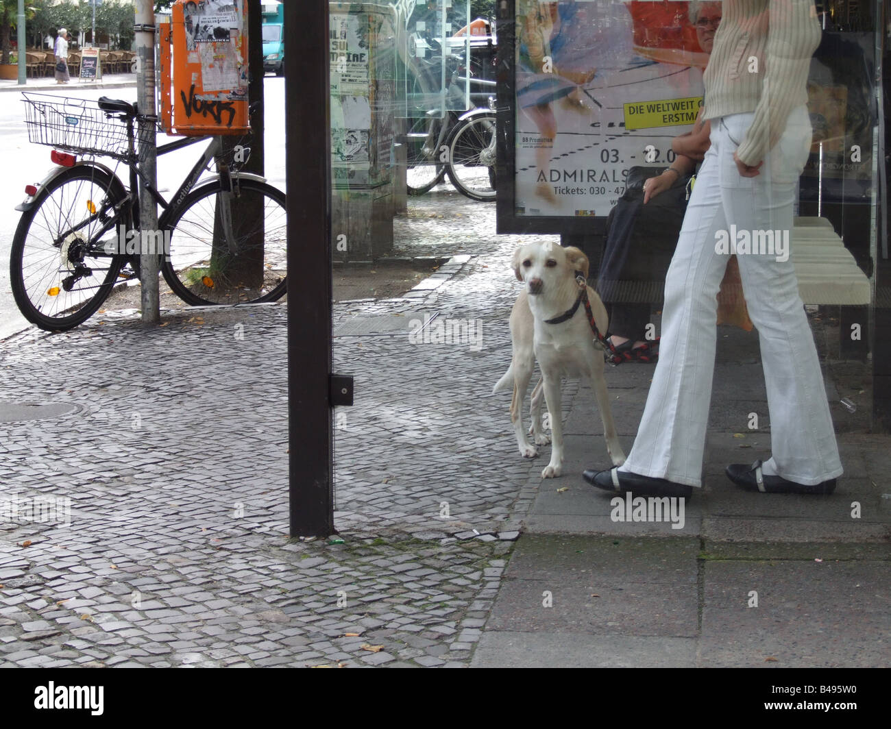
<svg viewBox="0 0 891 729"><path fill-rule="evenodd" d="M29 322L60 332L102 306L124 258L100 250L98 238L116 233L111 207L126 197L116 176L89 165L65 170L37 193L10 253L12 296Z"/></svg>

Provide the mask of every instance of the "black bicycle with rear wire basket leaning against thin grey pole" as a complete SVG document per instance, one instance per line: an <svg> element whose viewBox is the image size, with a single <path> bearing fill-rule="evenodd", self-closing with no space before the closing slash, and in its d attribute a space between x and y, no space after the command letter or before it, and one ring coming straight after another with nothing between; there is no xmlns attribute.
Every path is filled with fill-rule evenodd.
<svg viewBox="0 0 891 729"><path fill-rule="evenodd" d="M139 277L143 251L159 255L170 289L193 306L261 303L284 295L285 195L262 176L241 170L249 147L236 145L224 155L221 137L210 137L168 201L140 168L144 143L156 133L155 118L104 96L94 102L22 95L29 141L53 147L50 159L58 165L40 184L28 185L25 201L16 206L21 217L12 239L10 281L29 322L47 331L82 324L119 281ZM137 121L150 122L138 127L138 151ZM207 140L178 139L157 153ZM78 160L78 154L86 159ZM102 156L127 165L129 186L94 159ZM200 180L212 163L216 173ZM140 229L140 182L143 194L163 209L157 231Z"/></svg>

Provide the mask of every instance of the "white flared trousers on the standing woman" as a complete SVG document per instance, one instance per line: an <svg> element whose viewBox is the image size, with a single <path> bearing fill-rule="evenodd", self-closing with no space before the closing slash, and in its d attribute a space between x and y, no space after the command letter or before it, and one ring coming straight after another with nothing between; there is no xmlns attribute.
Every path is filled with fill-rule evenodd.
<svg viewBox="0 0 891 729"><path fill-rule="evenodd" d="M748 315L761 342L772 446L765 467L806 485L842 473L792 259L778 260L776 245L764 245L767 236L761 233L789 231L792 238L792 206L811 144L810 120L805 106L793 111L761 174L743 177L733 152L752 119L751 113L712 119L711 147L666 275L658 364L634 448L619 471L701 486L715 371L715 297L729 258L716 244L726 243L731 233L734 242L743 242L748 232L750 241L760 241L759 252L736 252ZM762 253L762 247L772 250ZM740 412L740 423L747 422L748 412Z"/></svg>

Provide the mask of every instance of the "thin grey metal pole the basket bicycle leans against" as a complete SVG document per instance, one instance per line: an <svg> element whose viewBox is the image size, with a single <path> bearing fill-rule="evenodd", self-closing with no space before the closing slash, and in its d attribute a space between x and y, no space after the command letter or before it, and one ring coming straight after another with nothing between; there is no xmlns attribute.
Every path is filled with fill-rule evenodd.
<svg viewBox="0 0 891 729"><path fill-rule="evenodd" d="M143 114L153 116L155 113L155 12L153 0L136 0L136 58L139 59L136 69L136 105ZM157 185L158 176L155 168L157 159L155 151L155 135L153 122L140 122L143 132L140 139L141 168L152 187ZM143 183L140 181L140 187ZM148 192L140 191L139 226L143 235L141 241L157 242L158 236L149 236L158 229L158 207ZM143 324L158 324L160 321L158 297L158 255L155 246L141 249L139 265L142 281Z"/></svg>

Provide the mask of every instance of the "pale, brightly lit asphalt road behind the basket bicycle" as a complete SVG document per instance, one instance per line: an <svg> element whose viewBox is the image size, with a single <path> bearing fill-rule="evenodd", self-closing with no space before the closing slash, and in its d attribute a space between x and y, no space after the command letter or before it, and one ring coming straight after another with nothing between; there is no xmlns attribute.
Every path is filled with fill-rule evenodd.
<svg viewBox="0 0 891 729"><path fill-rule="evenodd" d="M26 89L27 91L27 89ZM97 99L100 96L125 99L135 102L136 89L82 89L69 86L58 92L55 89L33 89L32 93L52 93L59 96L78 96ZM284 79L266 77L266 177L271 184L285 188L284 180ZM3 175L0 176L0 339L19 332L29 324L19 313L12 299L9 284L9 254L12 237L19 216L14 208L25 199L25 185L37 184L53 168L50 161L51 148L28 141L24 124L24 103L20 94L3 94L0 103L0 149L3 150ZM110 122L115 123L115 122ZM159 136L159 143L165 141ZM192 147L171 152L159 159L158 182L161 194L168 197L182 183L192 168L200 152ZM104 160L114 166L114 160ZM118 168L119 176L127 180L128 171L123 165Z"/></svg>

